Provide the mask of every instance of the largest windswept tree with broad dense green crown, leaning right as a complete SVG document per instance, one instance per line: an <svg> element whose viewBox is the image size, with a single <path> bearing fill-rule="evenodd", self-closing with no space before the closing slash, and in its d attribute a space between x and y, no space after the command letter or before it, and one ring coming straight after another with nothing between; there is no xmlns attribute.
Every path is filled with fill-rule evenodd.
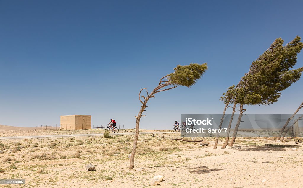
<svg viewBox="0 0 303 188"><path fill-rule="evenodd" d="M271 46L250 66L237 86L230 87L235 104L240 105L240 114L229 146L233 146L243 112L243 105L270 105L281 96L281 91L298 81L303 68L289 70L297 63L297 54L303 48L300 37L283 46L277 38ZM235 105L234 105L235 108Z"/></svg>

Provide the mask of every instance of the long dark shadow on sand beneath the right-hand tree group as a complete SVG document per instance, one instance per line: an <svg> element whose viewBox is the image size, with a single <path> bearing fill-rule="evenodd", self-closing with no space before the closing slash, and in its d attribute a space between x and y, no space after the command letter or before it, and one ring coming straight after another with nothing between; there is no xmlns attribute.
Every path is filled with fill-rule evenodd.
<svg viewBox="0 0 303 188"><path fill-rule="evenodd" d="M238 149L239 147L233 147L231 149L233 150L241 150L241 151L285 151L289 150L291 148L302 148L302 146L298 145L285 145L285 144L265 144L265 145L253 145L253 146L241 146L241 149Z"/></svg>

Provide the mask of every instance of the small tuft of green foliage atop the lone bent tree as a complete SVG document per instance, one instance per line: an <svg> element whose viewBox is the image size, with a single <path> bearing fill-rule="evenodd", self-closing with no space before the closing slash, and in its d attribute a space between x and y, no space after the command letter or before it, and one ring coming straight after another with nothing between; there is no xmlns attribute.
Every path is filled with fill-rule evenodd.
<svg viewBox="0 0 303 188"><path fill-rule="evenodd" d="M173 85L190 87L205 73L207 63L191 63L184 66L178 65L174 70L174 73L167 75L168 81Z"/></svg>

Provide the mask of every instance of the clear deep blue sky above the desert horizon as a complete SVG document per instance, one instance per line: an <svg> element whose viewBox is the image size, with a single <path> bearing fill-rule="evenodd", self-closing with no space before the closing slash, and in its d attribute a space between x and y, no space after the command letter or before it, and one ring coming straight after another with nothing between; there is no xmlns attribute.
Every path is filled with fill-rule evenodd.
<svg viewBox="0 0 303 188"><path fill-rule="evenodd" d="M182 113L222 113L219 100L275 38L303 37L302 1L1 1L0 124L59 124L60 115L135 127L140 88L178 65L208 63L191 88L158 93L141 128ZM303 66L303 52L297 67ZM270 106L293 113L303 78Z"/></svg>

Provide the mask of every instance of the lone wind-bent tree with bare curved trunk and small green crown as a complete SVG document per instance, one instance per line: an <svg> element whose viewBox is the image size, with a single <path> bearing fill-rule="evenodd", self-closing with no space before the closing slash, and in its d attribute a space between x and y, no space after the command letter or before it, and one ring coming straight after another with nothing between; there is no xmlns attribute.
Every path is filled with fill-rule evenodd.
<svg viewBox="0 0 303 188"><path fill-rule="evenodd" d="M139 136L140 119L142 116L145 116L142 115L142 113L145 111L145 108L148 107L148 105L146 105L148 100L155 97L155 94L158 92L173 89L176 88L177 86L190 87L194 85L196 81L200 79L201 76L207 70L207 63L204 64L191 63L190 65L185 65L185 66L178 65L176 68L174 68L174 70L175 72L163 76L160 79L158 86L155 87L155 89L151 93L148 93L148 91L146 90L146 96L143 95L141 96L141 92L146 88L141 89L139 92L139 101L142 103L142 105L138 115L135 116L136 132L135 132L134 144L132 147L132 154L130 156L129 169L134 169L135 166L134 158L135 158L138 136Z"/></svg>

